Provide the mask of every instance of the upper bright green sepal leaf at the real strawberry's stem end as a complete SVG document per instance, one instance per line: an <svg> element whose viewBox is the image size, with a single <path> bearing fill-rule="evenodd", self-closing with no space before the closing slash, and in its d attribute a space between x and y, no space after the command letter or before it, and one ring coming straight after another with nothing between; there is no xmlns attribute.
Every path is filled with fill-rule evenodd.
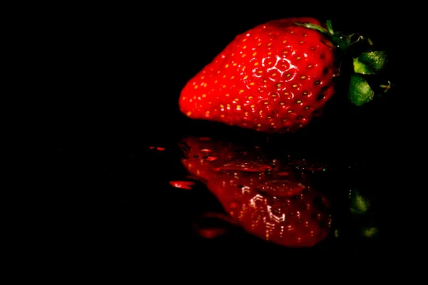
<svg viewBox="0 0 428 285"><path fill-rule="evenodd" d="M361 53L354 58L354 71L362 74L376 74L385 67L388 62L386 51L370 51Z"/></svg>

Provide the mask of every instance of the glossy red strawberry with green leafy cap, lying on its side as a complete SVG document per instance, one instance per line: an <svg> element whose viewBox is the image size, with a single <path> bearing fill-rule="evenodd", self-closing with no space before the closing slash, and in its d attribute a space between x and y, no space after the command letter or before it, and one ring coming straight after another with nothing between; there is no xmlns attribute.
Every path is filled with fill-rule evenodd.
<svg viewBox="0 0 428 285"><path fill-rule="evenodd" d="M332 31L309 17L278 19L235 37L180 93L180 111L267 133L295 131L319 115L335 94L340 51L370 39ZM355 43L359 44L355 44ZM349 96L362 105L374 91L361 75L384 68L386 54L355 57Z"/></svg>

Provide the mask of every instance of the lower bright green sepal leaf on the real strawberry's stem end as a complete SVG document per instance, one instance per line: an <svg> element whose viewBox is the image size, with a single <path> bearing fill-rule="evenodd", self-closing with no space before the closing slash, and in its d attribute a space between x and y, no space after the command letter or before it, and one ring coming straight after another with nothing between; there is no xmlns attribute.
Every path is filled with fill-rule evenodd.
<svg viewBox="0 0 428 285"><path fill-rule="evenodd" d="M374 98L374 91L364 76L360 73L354 73L351 76L348 89L348 98L357 106L370 102Z"/></svg>

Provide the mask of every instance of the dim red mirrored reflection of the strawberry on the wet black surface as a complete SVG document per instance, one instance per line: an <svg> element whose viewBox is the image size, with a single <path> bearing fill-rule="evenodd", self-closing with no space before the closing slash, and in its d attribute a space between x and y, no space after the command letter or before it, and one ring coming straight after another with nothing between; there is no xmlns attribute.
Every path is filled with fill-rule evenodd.
<svg viewBox="0 0 428 285"><path fill-rule="evenodd" d="M330 231L330 202L287 160L260 147L185 138L183 165L247 232L286 247L312 247Z"/></svg>

